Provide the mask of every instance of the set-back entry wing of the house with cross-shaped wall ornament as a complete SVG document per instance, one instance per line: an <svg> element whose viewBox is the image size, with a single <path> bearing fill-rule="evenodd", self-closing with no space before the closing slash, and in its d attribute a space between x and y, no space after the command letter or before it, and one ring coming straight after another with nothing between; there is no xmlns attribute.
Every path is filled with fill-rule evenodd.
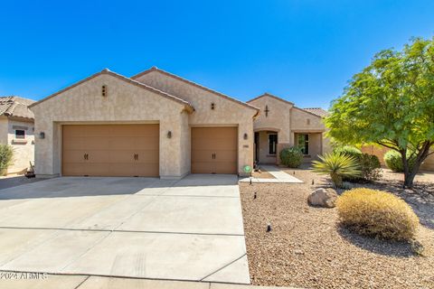
<svg viewBox="0 0 434 289"><path fill-rule="evenodd" d="M279 163L279 153L285 147L298 146L311 162L318 154L330 150L325 138L322 108L299 108L285 99L265 93L248 101L261 113L254 120L254 159L258 163Z"/></svg>

